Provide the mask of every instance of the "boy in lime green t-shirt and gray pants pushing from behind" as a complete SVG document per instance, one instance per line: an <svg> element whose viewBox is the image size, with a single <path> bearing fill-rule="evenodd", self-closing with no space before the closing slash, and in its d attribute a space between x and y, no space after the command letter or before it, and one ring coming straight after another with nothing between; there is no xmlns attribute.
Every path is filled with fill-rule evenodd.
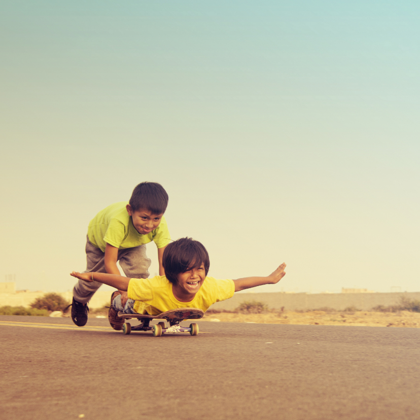
<svg viewBox="0 0 420 420"><path fill-rule="evenodd" d="M111 204L100 211L88 227L85 273L93 271L96 276L107 273L111 277L122 277L117 267L119 261L128 278L147 278L151 261L146 255L145 244L153 240L158 249L159 274L163 276L163 251L170 242L163 217L167 204L168 195L160 184L142 182L134 188L129 202ZM82 327L88 319L87 303L103 282L99 277L95 280L92 278L90 282L78 278L79 282L73 289L72 319ZM115 291L112 299L118 295L121 300L121 294L124 299L124 289ZM115 319L115 315L116 311L111 308L108 317L111 326L121 329L121 323Z"/></svg>

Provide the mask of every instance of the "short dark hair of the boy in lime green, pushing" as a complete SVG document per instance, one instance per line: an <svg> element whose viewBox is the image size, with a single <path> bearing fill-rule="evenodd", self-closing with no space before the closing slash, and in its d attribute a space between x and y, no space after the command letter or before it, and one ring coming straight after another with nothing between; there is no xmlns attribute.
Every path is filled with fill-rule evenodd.
<svg viewBox="0 0 420 420"><path fill-rule="evenodd" d="M168 194L157 182L142 182L134 188L129 203L133 212L145 209L162 215L168 205Z"/></svg>

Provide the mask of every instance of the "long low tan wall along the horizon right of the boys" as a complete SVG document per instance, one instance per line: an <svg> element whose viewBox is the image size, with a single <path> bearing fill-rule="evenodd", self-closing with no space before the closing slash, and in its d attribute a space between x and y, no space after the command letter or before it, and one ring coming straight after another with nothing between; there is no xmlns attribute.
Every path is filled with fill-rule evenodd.
<svg viewBox="0 0 420 420"><path fill-rule="evenodd" d="M258 301L265 303L270 309L305 310L329 307L343 310L355 306L361 310L370 310L377 305L395 305L401 297L420 300L420 292L405 293L236 293L231 299L216 302L212 309L233 310L242 302Z"/></svg>

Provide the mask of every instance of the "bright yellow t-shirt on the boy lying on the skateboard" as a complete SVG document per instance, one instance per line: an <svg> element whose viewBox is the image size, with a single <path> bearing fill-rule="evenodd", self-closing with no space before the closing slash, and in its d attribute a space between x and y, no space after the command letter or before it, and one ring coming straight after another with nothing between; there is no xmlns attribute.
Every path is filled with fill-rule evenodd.
<svg viewBox="0 0 420 420"><path fill-rule="evenodd" d="M229 299L235 293L233 280L205 277L200 290L191 302L180 302L172 293L172 283L164 275L152 278L131 278L128 297L134 299L133 309L137 313L159 315L170 309L198 308L204 312L215 302Z"/></svg>

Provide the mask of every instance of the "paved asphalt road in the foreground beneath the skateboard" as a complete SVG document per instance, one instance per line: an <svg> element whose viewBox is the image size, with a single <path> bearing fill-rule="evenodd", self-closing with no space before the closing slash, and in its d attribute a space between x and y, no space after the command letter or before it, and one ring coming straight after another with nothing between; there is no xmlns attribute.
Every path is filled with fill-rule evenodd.
<svg viewBox="0 0 420 420"><path fill-rule="evenodd" d="M2 418L420 419L420 329L0 316Z"/></svg>

